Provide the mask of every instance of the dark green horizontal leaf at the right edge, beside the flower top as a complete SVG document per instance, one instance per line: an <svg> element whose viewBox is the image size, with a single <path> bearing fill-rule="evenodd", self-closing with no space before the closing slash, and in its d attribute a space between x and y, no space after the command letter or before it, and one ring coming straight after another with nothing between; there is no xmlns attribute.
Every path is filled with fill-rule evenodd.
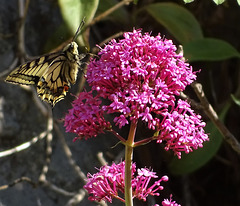
<svg viewBox="0 0 240 206"><path fill-rule="evenodd" d="M188 61L220 61L240 57L239 52L226 41L213 38L198 39L183 44Z"/></svg>

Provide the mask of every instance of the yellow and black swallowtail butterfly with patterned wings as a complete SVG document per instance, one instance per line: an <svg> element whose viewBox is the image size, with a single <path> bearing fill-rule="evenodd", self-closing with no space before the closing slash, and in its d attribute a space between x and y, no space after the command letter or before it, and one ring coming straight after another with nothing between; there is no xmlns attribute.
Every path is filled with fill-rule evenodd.
<svg viewBox="0 0 240 206"><path fill-rule="evenodd" d="M6 78L7 82L36 85L38 96L54 106L66 96L71 84L75 84L81 60L78 45L72 41L62 51L41 56L27 62Z"/></svg>

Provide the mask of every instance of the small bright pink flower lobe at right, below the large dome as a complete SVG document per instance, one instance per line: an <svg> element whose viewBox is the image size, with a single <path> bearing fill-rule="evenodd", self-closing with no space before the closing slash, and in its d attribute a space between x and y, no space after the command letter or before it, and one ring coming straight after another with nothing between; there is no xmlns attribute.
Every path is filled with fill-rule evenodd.
<svg viewBox="0 0 240 206"><path fill-rule="evenodd" d="M203 147L203 142L208 140L203 130L205 125L186 101L178 100L177 106L161 121L157 142L166 142L165 149L173 150L180 159L182 151L189 153Z"/></svg>

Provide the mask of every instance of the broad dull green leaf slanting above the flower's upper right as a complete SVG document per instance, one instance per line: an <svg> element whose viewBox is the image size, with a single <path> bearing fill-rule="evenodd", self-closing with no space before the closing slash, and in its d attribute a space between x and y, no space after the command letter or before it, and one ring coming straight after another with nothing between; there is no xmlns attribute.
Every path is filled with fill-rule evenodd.
<svg viewBox="0 0 240 206"><path fill-rule="evenodd" d="M174 3L155 3L146 7L147 12L181 43L203 38L201 27L187 9Z"/></svg>

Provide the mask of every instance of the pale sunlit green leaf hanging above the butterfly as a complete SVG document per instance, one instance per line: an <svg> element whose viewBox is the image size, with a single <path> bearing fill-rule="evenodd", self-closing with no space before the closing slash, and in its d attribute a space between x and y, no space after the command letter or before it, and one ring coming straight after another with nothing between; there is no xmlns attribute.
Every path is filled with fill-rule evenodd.
<svg viewBox="0 0 240 206"><path fill-rule="evenodd" d="M63 19L72 34L85 17L86 23L94 17L99 0L58 0Z"/></svg>

